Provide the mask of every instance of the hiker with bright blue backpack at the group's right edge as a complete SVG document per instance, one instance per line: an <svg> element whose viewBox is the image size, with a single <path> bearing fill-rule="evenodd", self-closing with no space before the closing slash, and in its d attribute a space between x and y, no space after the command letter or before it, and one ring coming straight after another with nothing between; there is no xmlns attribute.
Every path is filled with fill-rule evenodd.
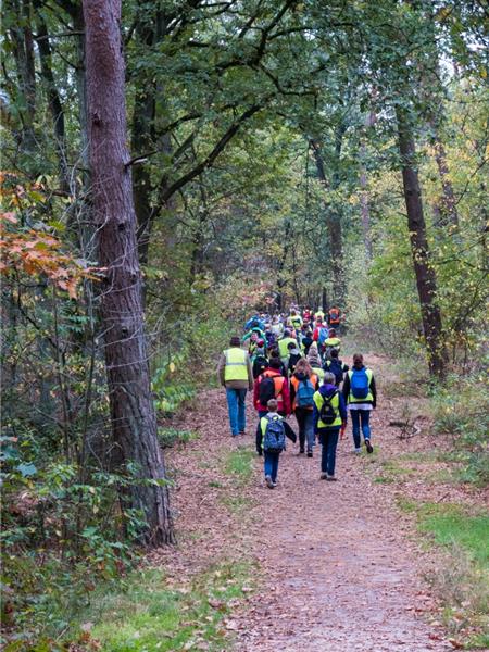
<svg viewBox="0 0 489 652"><path fill-rule="evenodd" d="M373 453L371 412L377 405L377 390L374 374L364 365L361 353L353 355L353 367L344 377L343 398L350 411L355 453L361 452L360 428L367 452Z"/></svg>

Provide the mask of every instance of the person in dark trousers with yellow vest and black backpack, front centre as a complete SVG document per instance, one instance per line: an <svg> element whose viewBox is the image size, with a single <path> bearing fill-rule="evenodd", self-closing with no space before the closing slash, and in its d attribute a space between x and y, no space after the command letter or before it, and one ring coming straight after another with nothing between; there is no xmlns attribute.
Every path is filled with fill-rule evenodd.
<svg viewBox="0 0 489 652"><path fill-rule="evenodd" d="M348 413L344 399L335 385L334 374L325 373L324 384L315 392L313 401L314 434L319 436L323 447L321 479L336 480L336 448L340 430L342 434L347 427Z"/></svg>

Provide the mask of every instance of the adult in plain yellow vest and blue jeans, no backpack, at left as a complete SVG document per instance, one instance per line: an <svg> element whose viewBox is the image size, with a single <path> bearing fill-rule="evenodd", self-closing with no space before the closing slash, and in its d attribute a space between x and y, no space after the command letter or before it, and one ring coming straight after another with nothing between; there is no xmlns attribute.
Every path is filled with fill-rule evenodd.
<svg viewBox="0 0 489 652"><path fill-rule="evenodd" d="M239 337L231 337L229 349L223 351L218 364L220 383L226 388L229 426L233 437L244 435L247 391L253 389L253 371L250 356L240 347Z"/></svg>

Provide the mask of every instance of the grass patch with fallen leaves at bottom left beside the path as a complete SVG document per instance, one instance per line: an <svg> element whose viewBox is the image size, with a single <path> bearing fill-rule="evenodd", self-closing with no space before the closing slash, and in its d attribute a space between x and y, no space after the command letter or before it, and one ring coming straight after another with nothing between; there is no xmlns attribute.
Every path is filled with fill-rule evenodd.
<svg viewBox="0 0 489 652"><path fill-rule="evenodd" d="M223 619L243 598L251 568L221 563L179 586L159 569L130 574L112 593L93 599L85 618L108 652L227 647Z"/></svg>

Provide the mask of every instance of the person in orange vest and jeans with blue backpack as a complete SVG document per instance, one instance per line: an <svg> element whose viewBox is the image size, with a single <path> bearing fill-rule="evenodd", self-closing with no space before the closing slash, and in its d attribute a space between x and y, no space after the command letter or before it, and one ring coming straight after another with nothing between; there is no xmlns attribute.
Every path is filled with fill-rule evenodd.
<svg viewBox="0 0 489 652"><path fill-rule="evenodd" d="M299 453L304 453L308 442L308 457L313 456L314 446L314 392L319 388L319 378L302 358L296 365L290 379L290 402L299 426Z"/></svg>

